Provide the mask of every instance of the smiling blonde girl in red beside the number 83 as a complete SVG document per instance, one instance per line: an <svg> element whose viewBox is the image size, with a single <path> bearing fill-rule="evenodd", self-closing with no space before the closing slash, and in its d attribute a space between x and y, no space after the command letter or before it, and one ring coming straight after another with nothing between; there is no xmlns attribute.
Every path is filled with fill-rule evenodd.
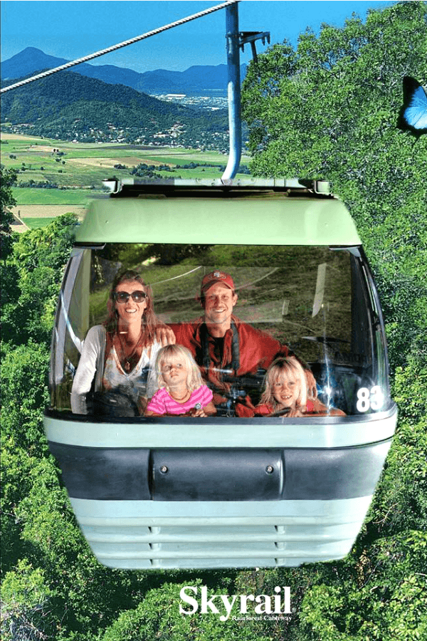
<svg viewBox="0 0 427 641"><path fill-rule="evenodd" d="M277 412L288 417L345 416L341 410L328 410L319 399L308 396L305 372L295 358L278 358L265 375L265 390L255 413L269 416Z"/></svg>

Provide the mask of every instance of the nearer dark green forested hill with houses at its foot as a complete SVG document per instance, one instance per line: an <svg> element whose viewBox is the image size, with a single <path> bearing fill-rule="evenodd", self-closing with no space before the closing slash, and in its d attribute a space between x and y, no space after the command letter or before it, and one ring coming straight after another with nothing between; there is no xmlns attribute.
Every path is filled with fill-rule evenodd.
<svg viewBox="0 0 427 641"><path fill-rule="evenodd" d="M1 121L15 132L80 142L159 144L160 138L166 144L179 138L194 147L221 142L228 132L226 109L191 108L68 70L4 93Z"/></svg>

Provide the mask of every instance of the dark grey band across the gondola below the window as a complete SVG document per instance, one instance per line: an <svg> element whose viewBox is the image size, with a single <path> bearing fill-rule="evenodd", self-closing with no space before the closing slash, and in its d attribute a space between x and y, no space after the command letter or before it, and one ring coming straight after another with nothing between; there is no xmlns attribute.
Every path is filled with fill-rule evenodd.
<svg viewBox="0 0 427 641"><path fill-rule="evenodd" d="M391 439L336 449L143 449L50 442L75 499L280 501L373 494Z"/></svg>

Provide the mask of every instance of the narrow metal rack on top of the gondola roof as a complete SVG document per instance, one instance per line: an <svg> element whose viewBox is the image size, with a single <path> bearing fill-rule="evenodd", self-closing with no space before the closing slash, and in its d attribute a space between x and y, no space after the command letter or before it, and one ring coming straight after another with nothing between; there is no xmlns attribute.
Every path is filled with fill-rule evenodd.
<svg viewBox="0 0 427 641"><path fill-rule="evenodd" d="M123 179L110 178L103 180L110 189L111 197L138 197L142 194L164 194L178 196L206 192L223 195L243 195L246 192L282 192L288 196L333 197L330 183L327 180L297 178L249 178L249 179Z"/></svg>

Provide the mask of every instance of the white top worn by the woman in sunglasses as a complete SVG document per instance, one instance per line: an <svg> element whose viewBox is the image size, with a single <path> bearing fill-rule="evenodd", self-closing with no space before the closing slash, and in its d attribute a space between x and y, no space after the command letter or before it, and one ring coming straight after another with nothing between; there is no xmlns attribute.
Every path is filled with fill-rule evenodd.
<svg viewBox="0 0 427 641"><path fill-rule="evenodd" d="M71 389L71 410L74 414L87 414L86 394L95 378L95 392L115 387L125 387L135 402L139 396L151 398L157 390L155 363L162 343L154 340L144 347L141 358L131 372L125 372L117 358L114 345L105 363L107 333L103 325L91 327L86 335L83 350Z"/></svg>

